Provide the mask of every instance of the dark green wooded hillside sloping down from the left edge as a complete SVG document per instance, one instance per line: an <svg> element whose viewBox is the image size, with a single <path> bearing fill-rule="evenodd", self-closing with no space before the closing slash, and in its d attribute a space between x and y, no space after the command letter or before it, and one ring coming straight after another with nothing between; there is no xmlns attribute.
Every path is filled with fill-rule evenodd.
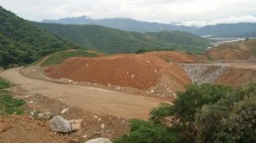
<svg viewBox="0 0 256 143"><path fill-rule="evenodd" d="M46 54L76 47L0 6L0 67L29 64Z"/></svg>

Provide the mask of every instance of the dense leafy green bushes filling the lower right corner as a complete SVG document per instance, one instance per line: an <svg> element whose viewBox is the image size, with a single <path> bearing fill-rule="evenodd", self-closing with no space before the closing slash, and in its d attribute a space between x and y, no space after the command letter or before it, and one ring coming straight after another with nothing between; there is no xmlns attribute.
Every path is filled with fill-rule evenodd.
<svg viewBox="0 0 256 143"><path fill-rule="evenodd" d="M173 105L153 109L149 121L132 120L129 134L114 142L256 141L256 81L235 89L194 84L177 95Z"/></svg>

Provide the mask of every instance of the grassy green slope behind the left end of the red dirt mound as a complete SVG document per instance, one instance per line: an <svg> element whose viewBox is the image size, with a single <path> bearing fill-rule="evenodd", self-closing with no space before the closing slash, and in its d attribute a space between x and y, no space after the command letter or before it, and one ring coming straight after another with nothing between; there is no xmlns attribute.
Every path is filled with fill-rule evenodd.
<svg viewBox="0 0 256 143"><path fill-rule="evenodd" d="M96 53L87 52L83 49L77 49L74 51L60 51L57 53L54 53L48 57L47 60L45 60L41 66L47 67L47 66L54 66L57 64L63 63L65 60L71 57L96 57Z"/></svg>

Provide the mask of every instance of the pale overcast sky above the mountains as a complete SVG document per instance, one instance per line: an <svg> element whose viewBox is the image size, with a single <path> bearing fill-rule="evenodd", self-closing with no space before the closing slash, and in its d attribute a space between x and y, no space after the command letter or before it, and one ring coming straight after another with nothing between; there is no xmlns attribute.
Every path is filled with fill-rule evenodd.
<svg viewBox="0 0 256 143"><path fill-rule="evenodd" d="M256 23L256 0L0 0L31 21L90 16L186 25Z"/></svg>

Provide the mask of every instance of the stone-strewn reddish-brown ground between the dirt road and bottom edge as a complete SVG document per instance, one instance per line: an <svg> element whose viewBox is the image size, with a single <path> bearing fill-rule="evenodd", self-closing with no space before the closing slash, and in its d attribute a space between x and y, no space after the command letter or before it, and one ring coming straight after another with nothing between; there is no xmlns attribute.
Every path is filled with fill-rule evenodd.
<svg viewBox="0 0 256 143"><path fill-rule="evenodd" d="M0 118L0 142L83 142L97 137L114 139L128 130L128 119L96 115L79 108L70 107L60 100L41 95L31 95L19 86L11 89L13 96L27 101L24 116ZM49 119L40 117L50 113L64 119L81 119L80 127L68 134L52 131ZM38 117L39 115L39 117Z"/></svg>

